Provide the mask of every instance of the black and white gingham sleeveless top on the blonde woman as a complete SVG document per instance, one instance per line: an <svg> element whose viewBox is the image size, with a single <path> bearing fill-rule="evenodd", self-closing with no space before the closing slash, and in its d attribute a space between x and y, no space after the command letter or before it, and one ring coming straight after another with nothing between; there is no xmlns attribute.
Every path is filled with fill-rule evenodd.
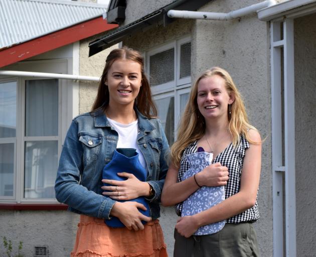
<svg viewBox="0 0 316 257"><path fill-rule="evenodd" d="M178 182L182 181L183 174L190 169L189 163L186 161L186 156L189 154L197 153L198 141L191 143L186 147L180 162L180 170L178 174ZM249 148L249 142L240 136L240 141L237 148L234 148L231 143L223 152L221 152L212 163L221 163L222 166L226 166L229 172L229 180L225 186L225 198L228 198L240 190L240 177L242 171L242 165L245 157L245 151ZM181 216L182 202L176 205L176 212L178 216ZM233 216L226 220L227 223L239 223L244 221L256 221L259 219L258 204L250 209Z"/></svg>

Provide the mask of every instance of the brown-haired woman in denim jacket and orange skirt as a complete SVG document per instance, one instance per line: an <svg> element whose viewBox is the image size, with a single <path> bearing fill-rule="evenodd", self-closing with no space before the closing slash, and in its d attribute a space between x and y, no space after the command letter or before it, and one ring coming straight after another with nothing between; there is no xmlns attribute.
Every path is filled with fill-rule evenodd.
<svg viewBox="0 0 316 257"><path fill-rule="evenodd" d="M125 47L111 51L92 111L73 119L60 157L56 198L81 214L71 256L167 256L157 218L169 146L155 116L141 55ZM102 179L114 157L131 160L119 149L134 150L144 181L120 159L106 171L119 179ZM119 227L107 225L114 218Z"/></svg>

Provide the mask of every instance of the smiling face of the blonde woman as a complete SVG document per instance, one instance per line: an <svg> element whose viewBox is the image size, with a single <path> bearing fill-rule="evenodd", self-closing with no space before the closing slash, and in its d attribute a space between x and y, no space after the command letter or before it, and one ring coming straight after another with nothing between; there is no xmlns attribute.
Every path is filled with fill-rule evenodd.
<svg viewBox="0 0 316 257"><path fill-rule="evenodd" d="M198 83L197 103L204 118L226 117L228 105L234 102L234 97L229 95L225 79L219 75L202 78Z"/></svg>

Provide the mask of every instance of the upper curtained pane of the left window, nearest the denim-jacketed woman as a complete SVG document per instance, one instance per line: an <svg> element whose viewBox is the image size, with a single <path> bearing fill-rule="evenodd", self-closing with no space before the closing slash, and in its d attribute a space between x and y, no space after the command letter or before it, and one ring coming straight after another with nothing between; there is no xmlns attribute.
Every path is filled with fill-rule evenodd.
<svg viewBox="0 0 316 257"><path fill-rule="evenodd" d="M26 81L25 136L58 136L58 79Z"/></svg>

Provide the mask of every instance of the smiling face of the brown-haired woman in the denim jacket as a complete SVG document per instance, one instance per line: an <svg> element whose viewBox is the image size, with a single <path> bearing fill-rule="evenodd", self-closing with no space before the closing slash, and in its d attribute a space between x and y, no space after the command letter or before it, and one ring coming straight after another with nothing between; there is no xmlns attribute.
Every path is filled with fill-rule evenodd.
<svg viewBox="0 0 316 257"><path fill-rule="evenodd" d="M118 59L113 62L106 76L109 89L109 105L133 106L141 86L141 66L139 63Z"/></svg>

